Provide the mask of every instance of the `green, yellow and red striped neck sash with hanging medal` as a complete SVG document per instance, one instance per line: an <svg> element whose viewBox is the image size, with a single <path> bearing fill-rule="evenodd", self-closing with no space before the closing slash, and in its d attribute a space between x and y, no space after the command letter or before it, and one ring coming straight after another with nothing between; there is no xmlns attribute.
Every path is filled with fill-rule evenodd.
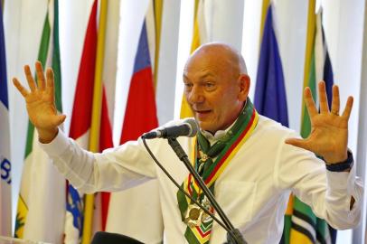
<svg viewBox="0 0 367 244"><path fill-rule="evenodd" d="M237 154L240 147L249 139L258 121L259 114L248 99L235 124L214 145L210 146L202 133L193 138L193 166L212 193L214 193L215 181L230 164L231 159ZM214 158L215 160L213 160ZM214 212L211 203L202 194L202 190L193 179L192 174L187 176L182 186L193 199L201 202L207 210ZM187 224L184 233L187 241L190 244L209 243L212 232L212 217L202 211L181 191L177 192L177 202L182 221Z"/></svg>

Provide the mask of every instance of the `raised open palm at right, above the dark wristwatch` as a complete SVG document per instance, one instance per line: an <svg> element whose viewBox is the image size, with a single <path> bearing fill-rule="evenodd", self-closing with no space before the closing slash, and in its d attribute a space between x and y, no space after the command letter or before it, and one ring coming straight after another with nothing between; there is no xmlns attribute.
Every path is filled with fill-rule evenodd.
<svg viewBox="0 0 367 244"><path fill-rule="evenodd" d="M317 111L311 90L305 89L306 108L311 120L311 133L306 139L289 138L287 144L302 147L320 155L329 164L343 162L347 158L348 120L353 108L353 97L349 97L343 114L339 115L339 88L333 87L332 108L329 110L325 82L318 84L320 112Z"/></svg>

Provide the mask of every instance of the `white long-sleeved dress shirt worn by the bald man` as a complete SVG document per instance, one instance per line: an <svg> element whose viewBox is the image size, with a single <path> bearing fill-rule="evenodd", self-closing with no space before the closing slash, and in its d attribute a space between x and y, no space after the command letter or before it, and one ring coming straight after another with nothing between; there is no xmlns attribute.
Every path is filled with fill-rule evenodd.
<svg viewBox="0 0 367 244"><path fill-rule="evenodd" d="M278 243L290 192L334 228L353 228L360 221L363 190L355 167L349 173L326 171L325 163L313 153L284 143L286 138L295 136L294 131L260 116L252 136L215 183L216 200L248 243ZM193 138L180 137L179 142L192 155ZM183 183L188 171L165 139L147 143L165 169ZM140 139L92 154L60 131L52 143L42 147L81 192L120 191L157 178L165 243L187 243L177 188L155 165ZM352 196L355 202L350 210ZM211 243L225 240L225 230L214 222Z"/></svg>

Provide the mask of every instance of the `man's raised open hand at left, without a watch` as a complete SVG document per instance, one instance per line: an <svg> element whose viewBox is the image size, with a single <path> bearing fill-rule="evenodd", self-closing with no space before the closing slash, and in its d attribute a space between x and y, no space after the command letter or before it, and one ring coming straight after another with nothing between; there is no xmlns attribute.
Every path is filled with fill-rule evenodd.
<svg viewBox="0 0 367 244"><path fill-rule="evenodd" d="M50 143L58 133L58 127L65 120L65 115L58 115L55 106L53 71L46 70L46 79L40 61L36 61L37 82L34 81L31 69L24 66L25 77L30 90L25 89L20 81L13 79L14 86L24 97L31 123L38 131L42 143Z"/></svg>

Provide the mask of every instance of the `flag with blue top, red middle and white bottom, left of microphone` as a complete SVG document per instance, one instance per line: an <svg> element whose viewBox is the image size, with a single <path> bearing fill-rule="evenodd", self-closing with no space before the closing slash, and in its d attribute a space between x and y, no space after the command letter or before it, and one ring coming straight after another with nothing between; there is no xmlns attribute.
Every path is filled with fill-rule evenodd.
<svg viewBox="0 0 367 244"><path fill-rule="evenodd" d="M137 45L120 144L136 140L144 132L158 126L154 67L150 54L155 53L152 52L155 45L148 44L146 25L144 21ZM123 192L112 193L107 230L125 234L145 243L161 242L163 221L157 186L157 182L153 180ZM134 208L131 208L132 204Z"/></svg>

